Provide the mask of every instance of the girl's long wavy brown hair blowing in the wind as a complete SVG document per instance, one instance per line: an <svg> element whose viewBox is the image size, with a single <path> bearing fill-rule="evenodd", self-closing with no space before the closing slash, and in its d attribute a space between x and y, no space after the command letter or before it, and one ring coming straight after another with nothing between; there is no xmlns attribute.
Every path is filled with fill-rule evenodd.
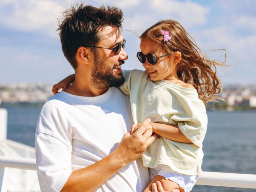
<svg viewBox="0 0 256 192"><path fill-rule="evenodd" d="M171 40L164 42L161 30L170 31ZM211 60L198 48L181 24L174 20L159 21L142 33L140 38L144 37L160 43L166 53L181 52L181 60L176 67L177 75L183 82L197 89L198 96L204 103L221 99L216 96L222 91L222 83L216 76L216 66L225 65L226 54L225 62Z"/></svg>

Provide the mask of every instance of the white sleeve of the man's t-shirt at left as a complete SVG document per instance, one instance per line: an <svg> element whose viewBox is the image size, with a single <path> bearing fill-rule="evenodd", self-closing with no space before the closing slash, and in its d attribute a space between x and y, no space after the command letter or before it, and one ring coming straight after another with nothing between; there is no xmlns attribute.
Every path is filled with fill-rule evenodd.
<svg viewBox="0 0 256 192"><path fill-rule="evenodd" d="M36 168L42 192L60 191L71 169L72 145L61 114L43 107L36 130Z"/></svg>

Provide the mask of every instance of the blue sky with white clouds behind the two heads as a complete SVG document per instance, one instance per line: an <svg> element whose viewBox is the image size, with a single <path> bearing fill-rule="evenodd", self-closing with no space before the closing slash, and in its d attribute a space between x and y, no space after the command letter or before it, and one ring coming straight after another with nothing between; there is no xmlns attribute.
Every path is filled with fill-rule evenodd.
<svg viewBox="0 0 256 192"><path fill-rule="evenodd" d="M115 5L123 11L122 35L129 59L122 69L143 69L136 58L141 34L161 19L178 21L211 59L226 85L256 84L256 1L254 0L0 0L0 84L57 83L74 73L65 59L58 18L72 3Z"/></svg>

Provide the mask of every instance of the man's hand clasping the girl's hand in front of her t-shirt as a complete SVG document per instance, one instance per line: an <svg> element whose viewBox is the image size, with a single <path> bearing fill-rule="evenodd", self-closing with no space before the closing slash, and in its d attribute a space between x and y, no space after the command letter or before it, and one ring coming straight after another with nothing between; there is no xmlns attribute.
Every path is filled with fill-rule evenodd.
<svg viewBox="0 0 256 192"><path fill-rule="evenodd" d="M124 160L124 164L139 158L147 146L157 138L158 135L152 135L152 129L149 128L150 123L150 119L146 119L138 124L136 132L124 134L119 146L115 150L118 157Z"/></svg>

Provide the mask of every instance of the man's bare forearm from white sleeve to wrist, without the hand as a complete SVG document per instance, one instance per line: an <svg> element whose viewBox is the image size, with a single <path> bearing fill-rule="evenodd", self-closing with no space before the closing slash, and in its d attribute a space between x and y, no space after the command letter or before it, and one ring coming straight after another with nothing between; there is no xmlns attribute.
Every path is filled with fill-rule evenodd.
<svg viewBox="0 0 256 192"><path fill-rule="evenodd" d="M61 191L95 191L126 164L114 151L88 167L73 171Z"/></svg>

